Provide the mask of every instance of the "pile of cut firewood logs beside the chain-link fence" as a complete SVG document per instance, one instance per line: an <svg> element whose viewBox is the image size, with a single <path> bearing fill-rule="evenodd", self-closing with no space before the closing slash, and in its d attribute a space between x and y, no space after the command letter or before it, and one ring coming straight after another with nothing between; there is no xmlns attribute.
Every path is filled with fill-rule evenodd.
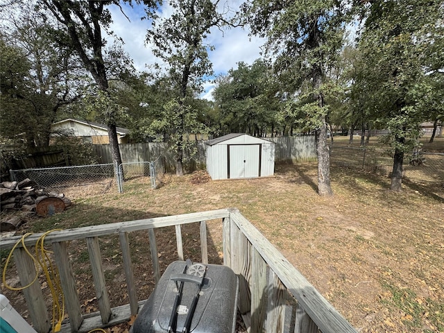
<svg viewBox="0 0 444 333"><path fill-rule="evenodd" d="M10 231L19 228L26 217L48 216L63 212L72 205L71 200L56 191L46 191L36 182L26 178L21 182L0 182L0 209L3 213L23 212L24 214L4 214L0 219L0 230ZM3 215L3 214L2 214Z"/></svg>

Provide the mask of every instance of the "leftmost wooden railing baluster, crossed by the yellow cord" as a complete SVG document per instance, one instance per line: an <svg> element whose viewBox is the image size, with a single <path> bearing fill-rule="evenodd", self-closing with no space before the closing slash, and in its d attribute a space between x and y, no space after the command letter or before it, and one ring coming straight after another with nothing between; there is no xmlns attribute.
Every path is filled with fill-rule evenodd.
<svg viewBox="0 0 444 333"><path fill-rule="evenodd" d="M33 262L33 259L29 257L28 253L26 253L24 248L15 249L14 261L22 287L33 282L36 274L35 263ZM24 289L23 293L26 303L33 305L28 307L28 310L35 330L37 330L37 332L48 332L51 323L49 323L48 312L46 311L46 305L38 279L31 284L31 286Z"/></svg>

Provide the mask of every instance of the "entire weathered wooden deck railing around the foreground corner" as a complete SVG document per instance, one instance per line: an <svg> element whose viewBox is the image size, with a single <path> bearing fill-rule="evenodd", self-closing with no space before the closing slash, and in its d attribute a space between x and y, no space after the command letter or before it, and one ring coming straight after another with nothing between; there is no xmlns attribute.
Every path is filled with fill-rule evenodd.
<svg viewBox="0 0 444 333"><path fill-rule="evenodd" d="M131 262L128 234L147 230L151 250L154 279L160 278L160 265L154 230L174 226L178 259L184 259L181 225L199 223L202 262L208 263L206 221L221 219L223 223L223 264L230 266L239 277L239 311L244 315L250 332L357 332L348 321L330 305L316 289L294 268L271 243L240 214L238 210L213 210L176 216L164 216L105 225L94 225L52 232L45 238L53 248L56 266L60 273L69 321L62 332L88 332L96 327L109 327L128 321L137 314L144 300L137 299L133 263ZM110 307L99 237L118 234L129 304ZM26 246L33 246L40 234L26 238ZM19 237L2 241L0 250L12 248ZM92 266L92 276L99 302L99 312L82 314L76 290L76 279L71 265L67 242L85 239ZM31 282L35 267L23 248L17 247L15 263L22 285ZM51 329L50 316L40 284L35 282L24 289L29 316L39 333Z"/></svg>

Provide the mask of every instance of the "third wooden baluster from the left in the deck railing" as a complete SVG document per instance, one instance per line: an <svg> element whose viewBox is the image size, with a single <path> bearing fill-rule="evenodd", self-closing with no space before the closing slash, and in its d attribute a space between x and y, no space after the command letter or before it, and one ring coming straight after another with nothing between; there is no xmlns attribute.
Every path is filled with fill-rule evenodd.
<svg viewBox="0 0 444 333"><path fill-rule="evenodd" d="M96 289L96 298L99 303L100 315L102 323L106 324L110 320L111 305L105 284L99 238L88 237L86 239L86 244L89 252L89 261L91 262L92 278L94 280L94 288Z"/></svg>

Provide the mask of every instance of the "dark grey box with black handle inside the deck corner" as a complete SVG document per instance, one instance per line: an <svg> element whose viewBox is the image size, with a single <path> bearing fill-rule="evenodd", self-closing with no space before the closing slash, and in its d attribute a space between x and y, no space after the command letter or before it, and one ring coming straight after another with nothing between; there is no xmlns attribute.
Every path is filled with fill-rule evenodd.
<svg viewBox="0 0 444 333"><path fill-rule="evenodd" d="M238 290L237 276L227 266L173 262L130 333L234 333Z"/></svg>

